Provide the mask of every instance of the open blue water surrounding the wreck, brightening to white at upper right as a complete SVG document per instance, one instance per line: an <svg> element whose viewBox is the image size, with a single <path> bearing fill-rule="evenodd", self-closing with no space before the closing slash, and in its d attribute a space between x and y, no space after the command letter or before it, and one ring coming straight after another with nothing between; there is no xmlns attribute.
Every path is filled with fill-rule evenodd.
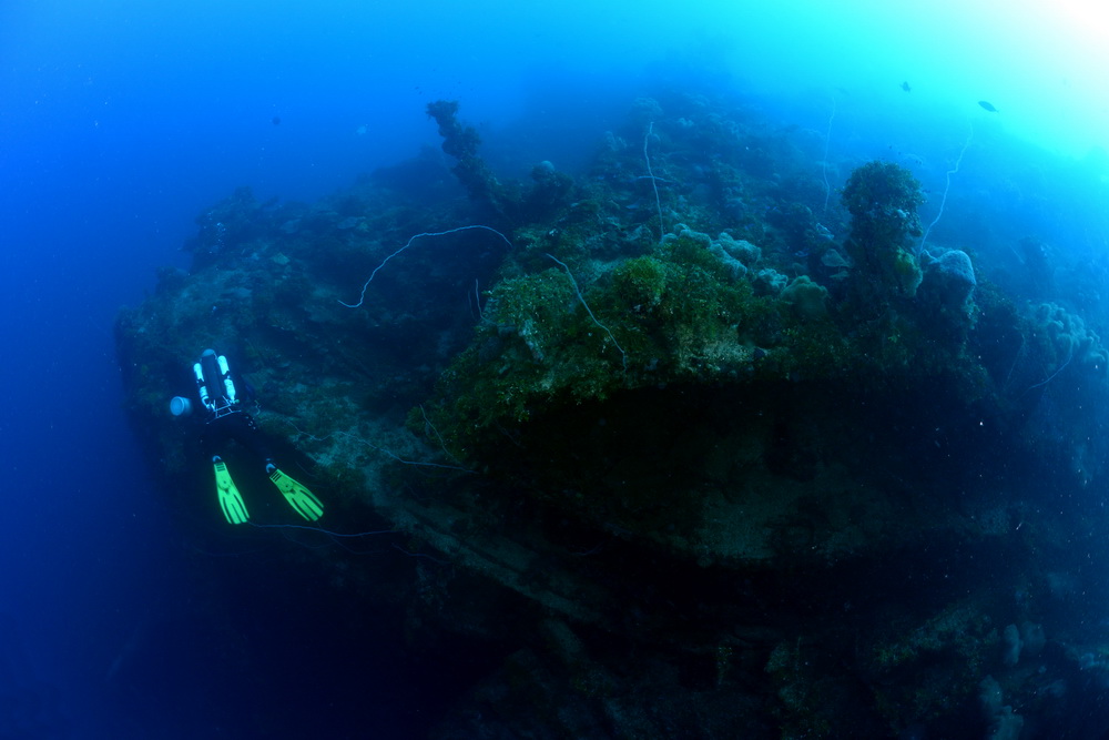
<svg viewBox="0 0 1109 740"><path fill-rule="evenodd" d="M254 714L274 697L215 678L233 657L204 648L195 554L122 410L112 322L159 267L189 266L194 219L235 187L311 201L437 148L433 100L461 101L490 160L519 175L539 160L583 166L660 80L734 90L783 129L825 138L830 163L913 170L933 239L955 237L945 229L973 222L974 199L993 199L1005 220L978 224L983 239L1042 234L1103 287L1109 91L1079 52L1105 28L1096 6L770 4L6 3L0 689L41 702L40 734L26 737L263 737L234 707ZM827 174L834 189L848 172ZM1102 315L1099 298L1076 301ZM437 706L449 681L400 665L396 626L354 648L354 693L349 662L334 671L288 647L312 626L284 621L283 604L312 595L246 578L257 588L236 612L243 649L274 648L274 683L288 687L276 700L305 702L297 730L367 737L367 718L374 737L426 729L418 692L438 692ZM350 649L348 635L327 647Z"/></svg>

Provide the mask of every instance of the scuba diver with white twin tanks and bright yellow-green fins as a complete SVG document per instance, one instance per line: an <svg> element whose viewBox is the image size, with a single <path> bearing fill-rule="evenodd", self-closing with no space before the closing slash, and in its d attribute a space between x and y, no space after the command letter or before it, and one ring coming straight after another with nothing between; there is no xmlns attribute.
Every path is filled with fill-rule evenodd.
<svg viewBox="0 0 1109 740"><path fill-rule="evenodd" d="M243 524L250 518L243 496L235 487L235 481L231 479L226 463L220 456L232 440L264 460L266 475L297 514L308 521L315 521L323 516L324 505L319 499L302 484L282 473L274 464L254 417L243 410L243 403L231 377L227 358L217 355L215 349L205 349L200 361L193 364L193 375L196 377L196 395L206 412L201 444L205 454L212 457L216 495L227 521ZM192 402L184 396L174 396L170 402L170 413L176 417L187 416L192 413Z"/></svg>

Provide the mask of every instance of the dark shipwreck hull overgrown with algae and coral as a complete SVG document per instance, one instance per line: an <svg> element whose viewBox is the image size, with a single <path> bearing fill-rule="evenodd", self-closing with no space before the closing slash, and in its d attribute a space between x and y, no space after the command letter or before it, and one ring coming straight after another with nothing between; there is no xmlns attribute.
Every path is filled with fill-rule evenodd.
<svg viewBox="0 0 1109 740"><path fill-rule="evenodd" d="M343 621L394 615L426 665L492 656L433 737L1109 729L1079 604L1105 587L1068 565L1106 524L1079 504L1092 318L922 245L908 170L826 187L811 141L722 101L639 100L591 171L522 183L428 113L447 158L312 204L240 190L121 313L176 510L220 517L165 412L216 346L327 507L332 535L253 531L268 564ZM257 524L304 524L268 493Z"/></svg>

